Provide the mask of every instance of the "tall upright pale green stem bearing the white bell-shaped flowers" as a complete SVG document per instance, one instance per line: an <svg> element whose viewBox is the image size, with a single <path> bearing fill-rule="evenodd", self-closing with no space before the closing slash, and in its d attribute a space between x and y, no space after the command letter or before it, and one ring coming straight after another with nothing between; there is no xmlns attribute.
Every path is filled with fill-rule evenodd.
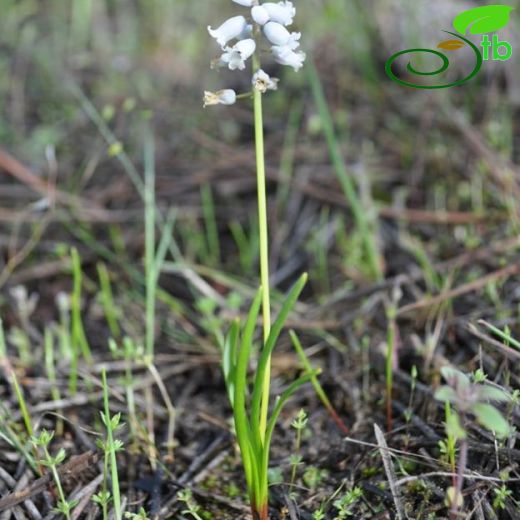
<svg viewBox="0 0 520 520"><path fill-rule="evenodd" d="M254 71L260 68L260 58L253 57ZM265 181L264 124L262 118L262 94L254 89L255 145L256 145L256 180L258 192L258 224L260 235L260 280L262 284L262 315L264 343L271 330L271 304L269 301L269 250L267 241L267 197ZM265 439L267 412L269 408L269 383L271 379L271 360L267 363L262 387L262 406L260 409L260 437Z"/></svg>

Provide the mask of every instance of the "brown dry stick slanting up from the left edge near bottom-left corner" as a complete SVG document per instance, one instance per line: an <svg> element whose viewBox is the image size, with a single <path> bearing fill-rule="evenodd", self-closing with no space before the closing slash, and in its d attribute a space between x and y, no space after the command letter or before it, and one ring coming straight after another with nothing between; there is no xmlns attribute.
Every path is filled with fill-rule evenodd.
<svg viewBox="0 0 520 520"><path fill-rule="evenodd" d="M61 479L75 479L81 473L92 467L100 458L99 452L87 451L81 455L71 457L69 461L58 467L58 475ZM10 493L0 500L0 511L11 509L12 507L24 502L28 498L37 495L48 486L53 485L52 474L47 473L43 477L35 480L28 488L22 491Z"/></svg>

